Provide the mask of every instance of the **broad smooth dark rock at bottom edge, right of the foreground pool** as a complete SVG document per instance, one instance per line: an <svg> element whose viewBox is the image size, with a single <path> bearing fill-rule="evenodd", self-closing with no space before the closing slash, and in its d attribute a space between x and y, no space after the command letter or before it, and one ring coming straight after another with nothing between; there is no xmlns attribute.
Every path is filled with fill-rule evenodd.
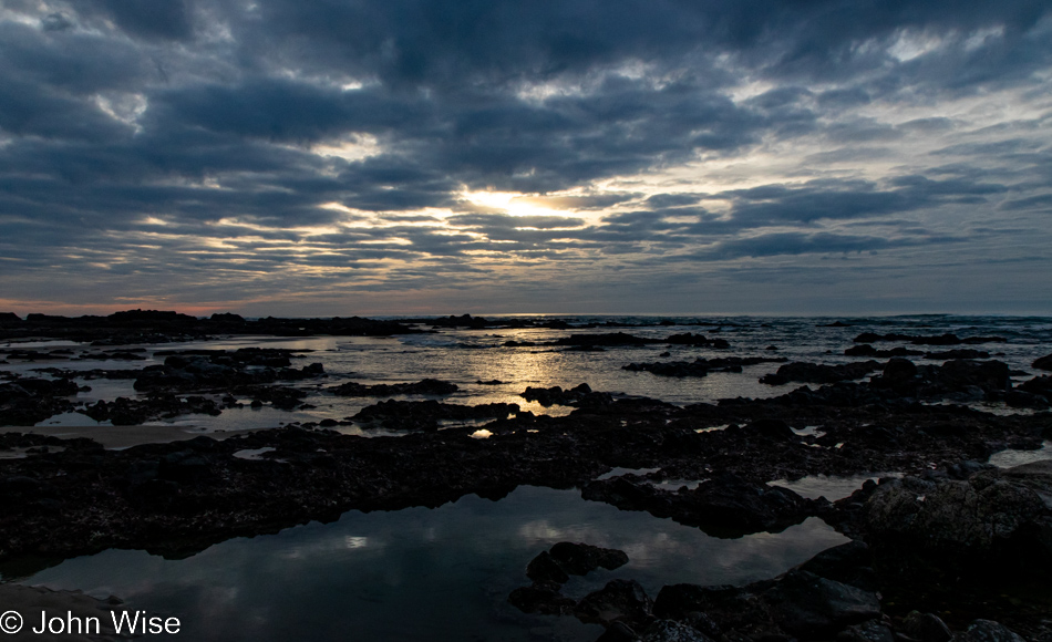
<svg viewBox="0 0 1052 642"><path fill-rule="evenodd" d="M803 639L880 617L876 594L802 570L787 572L762 596L778 625Z"/></svg>

